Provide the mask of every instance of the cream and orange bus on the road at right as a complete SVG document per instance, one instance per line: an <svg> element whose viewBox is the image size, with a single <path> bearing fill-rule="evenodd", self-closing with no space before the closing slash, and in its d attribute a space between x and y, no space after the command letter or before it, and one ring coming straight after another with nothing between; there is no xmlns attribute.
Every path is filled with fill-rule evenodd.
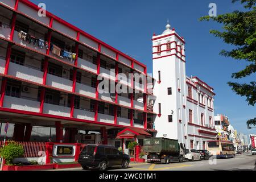
<svg viewBox="0 0 256 182"><path fill-rule="evenodd" d="M207 142L207 150L210 155L216 156L217 158L234 158L235 147L232 142L221 141L221 140L211 140Z"/></svg>

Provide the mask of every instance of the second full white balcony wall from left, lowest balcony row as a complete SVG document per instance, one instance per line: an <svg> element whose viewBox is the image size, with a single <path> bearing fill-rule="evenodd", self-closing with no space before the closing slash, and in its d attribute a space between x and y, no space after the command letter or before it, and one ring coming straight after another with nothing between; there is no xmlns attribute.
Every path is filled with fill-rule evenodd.
<svg viewBox="0 0 256 182"><path fill-rule="evenodd" d="M59 115L62 117L70 117L70 107L52 105L44 103L44 114Z"/></svg>

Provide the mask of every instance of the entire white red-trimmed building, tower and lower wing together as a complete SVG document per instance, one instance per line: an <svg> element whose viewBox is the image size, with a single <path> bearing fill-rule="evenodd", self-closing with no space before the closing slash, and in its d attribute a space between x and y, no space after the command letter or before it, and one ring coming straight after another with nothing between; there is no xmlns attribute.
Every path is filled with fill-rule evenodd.
<svg viewBox="0 0 256 182"><path fill-rule="evenodd" d="M162 35L152 38L156 137L178 139L187 148L203 149L207 140L216 138L213 89L197 77L186 76L185 42L170 27L167 24Z"/></svg>

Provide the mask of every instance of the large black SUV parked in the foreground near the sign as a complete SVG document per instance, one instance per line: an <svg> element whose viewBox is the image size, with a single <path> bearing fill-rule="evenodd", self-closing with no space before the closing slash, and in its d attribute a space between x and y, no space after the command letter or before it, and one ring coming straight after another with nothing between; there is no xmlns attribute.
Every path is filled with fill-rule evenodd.
<svg viewBox="0 0 256 182"><path fill-rule="evenodd" d="M82 149L79 156L79 164L83 169L93 167L105 171L110 166L128 168L129 163L129 155L123 154L114 146L103 144L89 144Z"/></svg>

